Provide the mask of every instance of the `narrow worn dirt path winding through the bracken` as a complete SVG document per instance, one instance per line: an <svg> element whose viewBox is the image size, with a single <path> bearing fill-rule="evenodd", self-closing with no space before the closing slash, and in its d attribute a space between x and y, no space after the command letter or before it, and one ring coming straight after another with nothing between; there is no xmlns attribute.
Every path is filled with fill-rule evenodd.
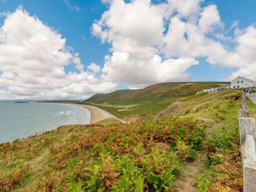
<svg viewBox="0 0 256 192"><path fill-rule="evenodd" d="M195 178L200 177L205 170L204 158L207 153L207 140L211 137L212 130L222 126L223 123L214 123L209 129L206 130L206 141L202 145L202 150L199 152L198 157L193 162L186 163L180 170L180 177L177 179L176 190L177 192L192 192L194 191Z"/></svg>

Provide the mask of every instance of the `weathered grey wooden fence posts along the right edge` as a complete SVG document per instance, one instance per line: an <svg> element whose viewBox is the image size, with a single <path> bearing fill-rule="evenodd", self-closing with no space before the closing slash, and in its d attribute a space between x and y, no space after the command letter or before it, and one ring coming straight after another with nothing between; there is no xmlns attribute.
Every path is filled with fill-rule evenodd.
<svg viewBox="0 0 256 192"><path fill-rule="evenodd" d="M241 109L237 113L239 118L241 155L243 159L244 191L256 191L255 119L249 118L249 107L244 92L240 104Z"/></svg>

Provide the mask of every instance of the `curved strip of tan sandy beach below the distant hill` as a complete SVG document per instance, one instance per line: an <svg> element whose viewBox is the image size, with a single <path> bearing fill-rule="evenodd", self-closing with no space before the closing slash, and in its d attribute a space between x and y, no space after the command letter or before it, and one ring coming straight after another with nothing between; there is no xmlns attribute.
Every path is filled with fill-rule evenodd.
<svg viewBox="0 0 256 192"><path fill-rule="evenodd" d="M91 112L91 120L90 123L97 123L101 120L108 119L108 118L113 118L113 119L118 119L116 116L112 115L111 113L104 111L103 109L99 109L95 106L90 106L90 105L82 105L82 104L74 104L74 105L79 105L83 106L86 108L88 111ZM118 119L120 122L126 123L124 120Z"/></svg>

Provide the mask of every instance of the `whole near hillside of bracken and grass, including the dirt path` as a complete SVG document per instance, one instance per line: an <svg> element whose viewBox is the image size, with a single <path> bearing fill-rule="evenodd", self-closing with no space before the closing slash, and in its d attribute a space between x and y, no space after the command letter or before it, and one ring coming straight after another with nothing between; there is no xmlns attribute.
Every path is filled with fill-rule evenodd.
<svg viewBox="0 0 256 192"><path fill-rule="evenodd" d="M191 95L156 120L107 119L1 144L0 191L241 191L240 96Z"/></svg>

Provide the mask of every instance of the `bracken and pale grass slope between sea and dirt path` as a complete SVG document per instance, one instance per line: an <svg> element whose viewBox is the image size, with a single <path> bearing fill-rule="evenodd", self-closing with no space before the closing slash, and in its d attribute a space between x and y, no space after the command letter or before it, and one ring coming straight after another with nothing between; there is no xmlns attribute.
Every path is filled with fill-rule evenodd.
<svg viewBox="0 0 256 192"><path fill-rule="evenodd" d="M197 156L203 134L197 121L172 116L61 127L1 145L0 190L168 191L180 162Z"/></svg>

